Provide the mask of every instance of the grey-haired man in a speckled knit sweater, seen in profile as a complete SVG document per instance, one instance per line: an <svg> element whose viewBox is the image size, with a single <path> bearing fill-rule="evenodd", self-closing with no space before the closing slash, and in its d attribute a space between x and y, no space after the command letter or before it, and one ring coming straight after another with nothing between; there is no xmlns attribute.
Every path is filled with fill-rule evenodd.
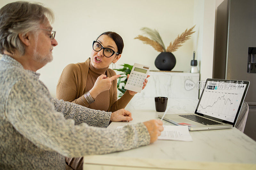
<svg viewBox="0 0 256 170"><path fill-rule="evenodd" d="M0 169L64 169L64 156L124 151L156 141L163 130L160 120L106 129L110 121L131 121L131 113L92 110L51 97L36 71L52 61L58 44L49 23L53 17L48 8L28 2L0 9Z"/></svg>

